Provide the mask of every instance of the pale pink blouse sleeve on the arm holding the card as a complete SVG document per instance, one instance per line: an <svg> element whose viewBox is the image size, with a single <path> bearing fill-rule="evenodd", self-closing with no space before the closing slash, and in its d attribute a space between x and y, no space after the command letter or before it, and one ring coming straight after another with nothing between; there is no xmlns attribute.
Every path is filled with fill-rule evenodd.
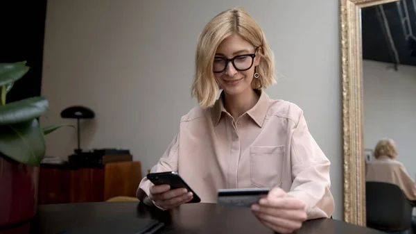
<svg viewBox="0 0 416 234"><path fill-rule="evenodd" d="M309 133L303 112L291 137L291 167L293 183L289 196L306 204L308 219L331 217L335 204L329 190L329 162Z"/></svg>

